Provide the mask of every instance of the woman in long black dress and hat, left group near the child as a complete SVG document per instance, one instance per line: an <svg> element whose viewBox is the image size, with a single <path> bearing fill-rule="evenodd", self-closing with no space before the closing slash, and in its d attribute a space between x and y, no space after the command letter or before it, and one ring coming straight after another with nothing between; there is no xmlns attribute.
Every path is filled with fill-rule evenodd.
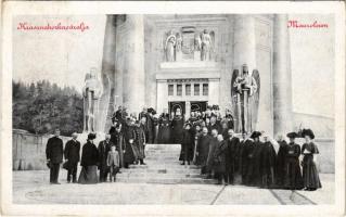
<svg viewBox="0 0 346 217"><path fill-rule="evenodd" d="M94 133L89 133L87 143L82 146L78 183L98 183L99 151L93 143L95 138Z"/></svg>

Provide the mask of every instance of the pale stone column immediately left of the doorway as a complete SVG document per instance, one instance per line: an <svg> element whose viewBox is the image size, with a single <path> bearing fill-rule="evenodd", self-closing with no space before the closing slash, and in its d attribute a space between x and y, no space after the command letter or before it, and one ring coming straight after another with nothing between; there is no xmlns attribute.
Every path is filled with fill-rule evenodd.
<svg viewBox="0 0 346 217"><path fill-rule="evenodd" d="M126 15L125 24L127 48L124 53L124 104L129 113L139 113L145 105L143 15Z"/></svg>

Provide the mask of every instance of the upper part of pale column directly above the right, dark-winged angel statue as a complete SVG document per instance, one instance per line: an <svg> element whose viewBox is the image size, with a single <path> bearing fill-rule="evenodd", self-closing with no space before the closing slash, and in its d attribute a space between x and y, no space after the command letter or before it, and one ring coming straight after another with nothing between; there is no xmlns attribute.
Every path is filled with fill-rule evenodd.
<svg viewBox="0 0 346 217"><path fill-rule="evenodd" d="M241 66L246 63L251 73L256 68L254 17L243 14L234 15L233 26L233 69L241 72Z"/></svg>

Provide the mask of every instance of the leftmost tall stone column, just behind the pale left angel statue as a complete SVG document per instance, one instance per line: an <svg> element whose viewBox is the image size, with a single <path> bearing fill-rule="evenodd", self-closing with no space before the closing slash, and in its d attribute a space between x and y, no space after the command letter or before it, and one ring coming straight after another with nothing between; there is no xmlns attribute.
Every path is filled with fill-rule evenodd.
<svg viewBox="0 0 346 217"><path fill-rule="evenodd" d="M114 112L116 15L107 15L104 33L101 80L103 92L95 116L95 131L107 131Z"/></svg>

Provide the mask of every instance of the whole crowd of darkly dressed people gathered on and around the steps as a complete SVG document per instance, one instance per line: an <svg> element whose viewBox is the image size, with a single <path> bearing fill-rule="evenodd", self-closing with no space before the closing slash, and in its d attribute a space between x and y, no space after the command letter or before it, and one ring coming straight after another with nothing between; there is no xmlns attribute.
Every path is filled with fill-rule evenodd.
<svg viewBox="0 0 346 217"><path fill-rule="evenodd" d="M60 132L55 130L55 136L47 144L51 183L59 183L63 156L67 182L97 183L107 178L115 181L116 174L129 168L131 164L145 165L146 143L177 143L181 144L181 165L200 166L203 178L215 178L219 184L236 182L260 188L308 191L321 188L313 161L319 150L313 142L311 129L298 133L289 132L289 142L283 136L274 140L264 131L243 132L239 138L234 133L232 114L226 111L225 116L221 116L217 105L208 106L205 112L191 112L189 118L179 108L172 114L165 111L157 115L154 108L144 107L137 115L128 114L126 107L119 106L105 140L98 146L94 144L95 135L88 135L81 158L78 135L74 133L63 150ZM295 142L298 137L305 138L302 149ZM79 161L82 168L77 180Z"/></svg>

